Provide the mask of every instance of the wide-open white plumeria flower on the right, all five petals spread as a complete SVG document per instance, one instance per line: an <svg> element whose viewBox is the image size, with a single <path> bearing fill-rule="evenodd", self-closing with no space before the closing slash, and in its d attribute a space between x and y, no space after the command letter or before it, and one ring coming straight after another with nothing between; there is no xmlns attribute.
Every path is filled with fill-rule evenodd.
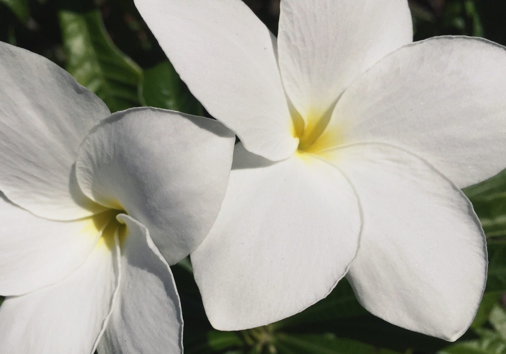
<svg viewBox="0 0 506 354"><path fill-rule="evenodd" d="M277 39L239 0L136 5L242 141L192 254L214 327L290 316L345 274L398 326L448 340L469 327L487 255L459 188L506 167L503 47L411 44L406 0L281 0Z"/></svg>

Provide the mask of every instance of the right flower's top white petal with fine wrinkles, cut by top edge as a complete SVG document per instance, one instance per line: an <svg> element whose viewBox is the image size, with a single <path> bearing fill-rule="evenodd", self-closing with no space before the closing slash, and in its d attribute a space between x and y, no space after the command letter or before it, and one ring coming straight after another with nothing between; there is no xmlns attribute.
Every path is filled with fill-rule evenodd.
<svg viewBox="0 0 506 354"><path fill-rule="evenodd" d="M303 118L324 114L353 78L413 40L406 0L281 0L279 66Z"/></svg>

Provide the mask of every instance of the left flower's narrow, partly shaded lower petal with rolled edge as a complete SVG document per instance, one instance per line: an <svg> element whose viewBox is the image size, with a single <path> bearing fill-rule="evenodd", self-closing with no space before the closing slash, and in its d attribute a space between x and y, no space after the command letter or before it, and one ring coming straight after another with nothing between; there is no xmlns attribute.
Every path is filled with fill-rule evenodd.
<svg viewBox="0 0 506 354"><path fill-rule="evenodd" d="M145 226L126 215L118 220L128 230L121 246L121 285L98 351L183 353L183 318L171 269Z"/></svg>

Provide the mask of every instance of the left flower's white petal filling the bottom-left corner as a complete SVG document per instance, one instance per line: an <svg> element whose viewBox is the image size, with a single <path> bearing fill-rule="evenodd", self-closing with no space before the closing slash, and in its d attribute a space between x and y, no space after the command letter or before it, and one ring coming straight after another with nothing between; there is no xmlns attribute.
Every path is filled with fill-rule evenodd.
<svg viewBox="0 0 506 354"><path fill-rule="evenodd" d="M116 248L102 244L64 281L7 298L0 307L2 351L92 354L118 286L118 261Z"/></svg>

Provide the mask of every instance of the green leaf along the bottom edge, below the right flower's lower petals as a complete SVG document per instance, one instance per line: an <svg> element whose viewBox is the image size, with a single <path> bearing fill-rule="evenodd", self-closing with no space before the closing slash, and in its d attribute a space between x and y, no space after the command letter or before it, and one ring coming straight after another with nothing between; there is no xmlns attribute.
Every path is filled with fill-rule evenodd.
<svg viewBox="0 0 506 354"><path fill-rule="evenodd" d="M274 342L280 354L395 354L352 339L331 334L279 334Z"/></svg>

